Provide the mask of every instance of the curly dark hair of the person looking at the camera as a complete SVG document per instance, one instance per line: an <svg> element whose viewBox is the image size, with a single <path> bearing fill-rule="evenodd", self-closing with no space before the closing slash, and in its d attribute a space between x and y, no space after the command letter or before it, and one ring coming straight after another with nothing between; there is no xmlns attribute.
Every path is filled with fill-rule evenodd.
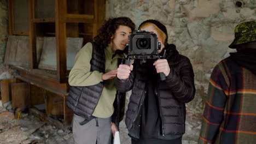
<svg viewBox="0 0 256 144"><path fill-rule="evenodd" d="M98 33L94 38L95 43L101 47L106 47L119 26L130 27L132 31L135 29L135 24L129 17L109 18L104 22L103 26L98 29Z"/></svg>

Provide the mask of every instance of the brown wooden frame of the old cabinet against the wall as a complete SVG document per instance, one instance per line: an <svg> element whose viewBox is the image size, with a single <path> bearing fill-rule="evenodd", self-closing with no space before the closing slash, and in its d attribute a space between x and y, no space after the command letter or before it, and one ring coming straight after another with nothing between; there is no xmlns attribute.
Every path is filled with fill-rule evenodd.
<svg viewBox="0 0 256 144"><path fill-rule="evenodd" d="M92 23L93 26L93 37L97 34L97 29L100 28L104 21L104 0L94 1L94 15L89 14L67 14L67 0L55 0L55 17L35 19L35 0L28 1L28 32L17 32L14 31L14 13L13 13L13 0L8 0L9 4L9 34L10 35L28 35L30 39L30 70L35 74L40 73L37 64L37 53L36 53L36 23L43 22L55 22L55 37L56 37L56 66L57 74L44 74L49 75L49 79L60 83L67 82L67 76L69 70L67 70L67 50L66 43L66 23Z"/></svg>

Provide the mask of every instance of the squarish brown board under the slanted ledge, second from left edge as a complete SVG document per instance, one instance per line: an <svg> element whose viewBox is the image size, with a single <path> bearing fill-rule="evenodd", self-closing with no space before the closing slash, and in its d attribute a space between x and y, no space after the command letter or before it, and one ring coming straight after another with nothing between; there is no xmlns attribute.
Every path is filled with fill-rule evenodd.
<svg viewBox="0 0 256 144"><path fill-rule="evenodd" d="M29 83L11 83L11 100L13 109L30 108L30 84Z"/></svg>

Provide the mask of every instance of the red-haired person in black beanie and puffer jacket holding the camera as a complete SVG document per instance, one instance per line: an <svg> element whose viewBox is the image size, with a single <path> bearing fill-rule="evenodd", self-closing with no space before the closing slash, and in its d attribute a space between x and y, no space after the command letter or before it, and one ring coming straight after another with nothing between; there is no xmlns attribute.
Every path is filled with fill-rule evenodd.
<svg viewBox="0 0 256 144"><path fill-rule="evenodd" d="M192 65L175 45L167 44L166 27L159 21L144 21L139 30L154 32L161 44L159 55L166 55L165 59L135 59L133 65L119 65L115 87L120 92L132 89L125 119L132 144L182 143L185 103L195 95ZM161 81L158 73L163 73L165 80Z"/></svg>

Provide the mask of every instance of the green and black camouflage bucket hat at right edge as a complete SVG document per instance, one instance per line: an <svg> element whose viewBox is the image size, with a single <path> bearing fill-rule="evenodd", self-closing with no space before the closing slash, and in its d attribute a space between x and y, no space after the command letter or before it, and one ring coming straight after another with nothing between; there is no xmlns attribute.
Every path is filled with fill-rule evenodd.
<svg viewBox="0 0 256 144"><path fill-rule="evenodd" d="M235 39L229 45L231 49L235 49L235 45L245 44L256 40L256 22L243 22L235 28Z"/></svg>

